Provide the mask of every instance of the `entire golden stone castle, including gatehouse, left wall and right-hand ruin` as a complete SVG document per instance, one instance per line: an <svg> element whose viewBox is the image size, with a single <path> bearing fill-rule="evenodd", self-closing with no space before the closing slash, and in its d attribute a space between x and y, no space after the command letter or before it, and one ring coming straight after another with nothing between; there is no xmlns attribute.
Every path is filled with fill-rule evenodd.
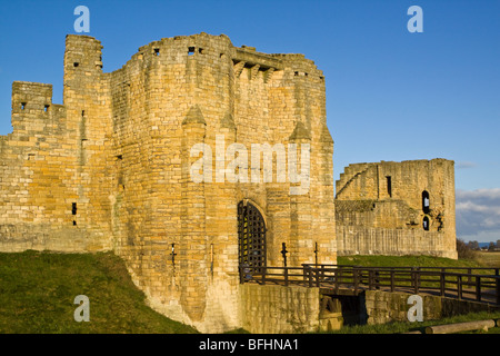
<svg viewBox="0 0 500 356"><path fill-rule="evenodd" d="M282 266L283 243L289 266L334 264L338 250L453 256L450 161L352 165L336 199L324 77L304 56L199 33L103 72L101 49L67 36L63 105L51 85L13 82L0 250L112 250L154 309L212 333L242 325L239 265ZM200 144L213 149L193 154ZM193 181L193 165L217 175L232 144L261 144L251 166L261 179ZM289 159L308 148L307 189L261 159L266 149L283 159L278 145Z"/></svg>

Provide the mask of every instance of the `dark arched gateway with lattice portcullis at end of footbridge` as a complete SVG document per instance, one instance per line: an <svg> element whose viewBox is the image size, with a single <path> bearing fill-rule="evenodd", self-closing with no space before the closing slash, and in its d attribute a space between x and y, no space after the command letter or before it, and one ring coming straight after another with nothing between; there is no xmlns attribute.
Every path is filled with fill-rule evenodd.
<svg viewBox="0 0 500 356"><path fill-rule="evenodd" d="M254 271L266 267L266 221L251 202L238 204L239 264Z"/></svg>

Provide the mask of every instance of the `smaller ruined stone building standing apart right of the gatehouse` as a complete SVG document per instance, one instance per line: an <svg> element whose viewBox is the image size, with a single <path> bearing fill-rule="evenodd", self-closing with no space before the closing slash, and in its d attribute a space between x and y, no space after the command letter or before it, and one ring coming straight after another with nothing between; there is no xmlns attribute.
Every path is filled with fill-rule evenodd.
<svg viewBox="0 0 500 356"><path fill-rule="evenodd" d="M457 258L453 166L432 159L346 167L336 184L338 254Z"/></svg>

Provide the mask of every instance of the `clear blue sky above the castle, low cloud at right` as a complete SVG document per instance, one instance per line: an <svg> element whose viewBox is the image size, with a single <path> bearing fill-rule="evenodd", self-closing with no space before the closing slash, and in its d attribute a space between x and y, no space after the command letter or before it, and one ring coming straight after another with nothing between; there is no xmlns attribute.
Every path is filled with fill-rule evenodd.
<svg viewBox="0 0 500 356"><path fill-rule="evenodd" d="M151 41L202 31L304 53L327 80L336 179L352 162L452 159L458 235L500 239L500 1L1 0L0 135L11 132L12 81L52 83L62 103L64 37L79 4L104 71ZM407 29L413 4L422 33Z"/></svg>

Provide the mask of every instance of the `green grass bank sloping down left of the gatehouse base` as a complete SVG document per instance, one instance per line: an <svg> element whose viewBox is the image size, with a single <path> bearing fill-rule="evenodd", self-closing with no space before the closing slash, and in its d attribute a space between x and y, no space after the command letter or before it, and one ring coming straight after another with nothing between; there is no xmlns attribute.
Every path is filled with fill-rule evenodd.
<svg viewBox="0 0 500 356"><path fill-rule="evenodd" d="M90 322L76 322L74 297L90 300ZM146 305L112 253L0 254L0 333L197 333Z"/></svg>

